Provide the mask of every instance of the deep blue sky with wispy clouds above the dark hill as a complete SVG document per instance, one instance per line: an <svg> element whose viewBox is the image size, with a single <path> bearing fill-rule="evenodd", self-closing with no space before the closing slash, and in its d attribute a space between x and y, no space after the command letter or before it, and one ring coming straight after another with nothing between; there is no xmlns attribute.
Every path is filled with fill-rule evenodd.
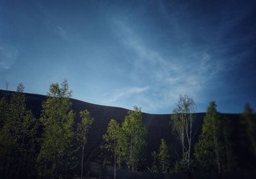
<svg viewBox="0 0 256 179"><path fill-rule="evenodd" d="M147 113L256 109L256 1L0 1L0 89Z"/></svg>

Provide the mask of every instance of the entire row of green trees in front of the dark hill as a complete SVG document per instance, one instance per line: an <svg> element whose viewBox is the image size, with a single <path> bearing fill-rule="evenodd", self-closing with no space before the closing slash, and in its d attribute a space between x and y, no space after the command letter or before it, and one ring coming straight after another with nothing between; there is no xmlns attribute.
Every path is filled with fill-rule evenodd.
<svg viewBox="0 0 256 179"><path fill-rule="evenodd" d="M90 111L71 110L67 80L52 83L42 103L40 118L27 109L24 86L20 83L10 99L0 100L0 172L1 178L67 178L81 167L84 176L84 155L88 132L94 118ZM144 169L152 173L224 173L237 169L255 169L256 117L249 104L239 121L218 113L216 103L207 108L200 131L195 127L195 102L180 96L170 117L170 133L180 143L179 159L173 160L173 148L161 139L159 149L152 151L152 164L145 163L147 129L141 108L128 111L122 124L109 120L102 136L102 164L131 171ZM197 143L195 143L197 142ZM81 158L77 157L81 156Z"/></svg>

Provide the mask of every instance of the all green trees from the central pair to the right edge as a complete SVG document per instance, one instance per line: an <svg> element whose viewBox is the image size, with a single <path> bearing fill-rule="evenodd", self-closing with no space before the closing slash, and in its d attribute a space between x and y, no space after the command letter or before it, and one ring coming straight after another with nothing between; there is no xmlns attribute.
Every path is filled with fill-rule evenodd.
<svg viewBox="0 0 256 179"><path fill-rule="evenodd" d="M152 173L189 173L189 172L211 172L218 173L234 171L236 169L250 168L255 166L256 161L256 116L249 104L246 104L244 113L239 121L226 118L218 113L216 103L211 102L205 113L202 132L198 142L195 143L196 132L200 131L195 127L195 102L191 97L180 96L171 118L172 132L179 139L181 151L180 158L173 161L170 159L172 148L166 145L161 139L159 149L152 152ZM137 115L136 115L137 114ZM138 119L136 122L136 118ZM134 124L134 125L133 125ZM135 125L136 124L136 125ZM141 123L140 109L136 106L134 111L129 111L128 116L122 125L111 119L103 139L106 141L102 148L106 148L113 154L113 163L116 176L116 163L118 168L125 162L132 171L133 161L139 162L136 157L140 154L146 141L138 139L138 143L132 145L132 140L138 136L145 136L145 128ZM246 135L243 135L246 134ZM241 146L241 141L247 145ZM129 143L130 142L130 143ZM138 145L138 147L136 147ZM131 152L132 148L138 150ZM239 150L247 150L254 155L254 162L243 164L243 155ZM241 151L240 151L241 152ZM132 157L133 156L133 157ZM242 161L242 162L240 162ZM253 160L252 160L253 161ZM136 164L134 165L136 166ZM253 168L253 166L251 166Z"/></svg>

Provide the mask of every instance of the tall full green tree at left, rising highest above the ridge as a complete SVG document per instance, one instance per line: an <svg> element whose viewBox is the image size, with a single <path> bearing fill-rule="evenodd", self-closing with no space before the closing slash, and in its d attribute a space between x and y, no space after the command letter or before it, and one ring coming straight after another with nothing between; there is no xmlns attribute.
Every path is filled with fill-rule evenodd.
<svg viewBox="0 0 256 179"><path fill-rule="evenodd" d="M63 80L61 87L58 83L52 83L47 92L47 100L42 103L40 121L43 132L37 162L38 171L45 178L58 178L65 168L61 164L68 155L74 137L72 125L75 113L70 110L71 93L67 80Z"/></svg>

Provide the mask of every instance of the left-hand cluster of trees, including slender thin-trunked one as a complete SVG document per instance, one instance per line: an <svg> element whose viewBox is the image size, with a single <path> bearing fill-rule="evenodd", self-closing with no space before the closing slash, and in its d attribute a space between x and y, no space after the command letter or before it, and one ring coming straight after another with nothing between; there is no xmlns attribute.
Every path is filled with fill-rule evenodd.
<svg viewBox="0 0 256 179"><path fill-rule="evenodd" d="M39 119L27 110L23 92L20 83L10 103L7 97L0 100L1 176L5 173L5 178L67 178L68 169L77 165L74 152L81 151L84 155L93 122L90 112L80 111L81 122L74 124L76 114L71 110L72 92L67 80L61 85L51 84Z"/></svg>

